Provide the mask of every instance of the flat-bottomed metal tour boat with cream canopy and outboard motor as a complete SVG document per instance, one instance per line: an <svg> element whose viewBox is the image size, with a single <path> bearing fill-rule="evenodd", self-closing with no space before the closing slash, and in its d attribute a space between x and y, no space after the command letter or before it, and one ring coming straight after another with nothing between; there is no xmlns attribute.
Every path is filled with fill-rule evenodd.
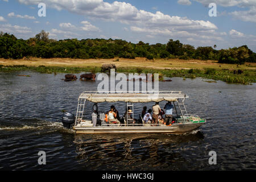
<svg viewBox="0 0 256 182"><path fill-rule="evenodd" d="M189 98L182 91L158 91L158 92L109 92L99 93L97 91L85 91L79 96L76 117L71 113L64 113L64 127L71 127L76 133L96 134L96 133L170 133L182 134L195 130L204 123L206 119L201 119L198 115L188 114L184 105L185 98ZM164 123L145 123L141 117L141 123L125 121L118 125L117 123L105 122L105 113L98 111L98 103L102 102L126 102L126 112L134 118L134 104L138 102L161 102L170 101L174 106L173 123L164 125ZM94 103L94 109L97 112L97 125L92 119L84 119L86 104ZM129 108L131 112L128 112ZM129 120L129 119L127 119ZM133 120L133 119L130 119Z"/></svg>

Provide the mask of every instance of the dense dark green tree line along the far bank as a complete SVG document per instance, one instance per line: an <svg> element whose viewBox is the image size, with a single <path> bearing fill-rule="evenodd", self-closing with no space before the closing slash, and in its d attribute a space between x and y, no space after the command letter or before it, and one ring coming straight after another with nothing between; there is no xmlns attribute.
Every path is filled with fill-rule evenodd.
<svg viewBox="0 0 256 182"><path fill-rule="evenodd" d="M219 63L244 64L256 62L256 53L247 46L216 50L212 47L197 47L170 39L167 44L137 44L121 39L49 39L49 33L41 31L28 40L17 39L14 35L0 33L0 57L21 59L23 57L111 59L122 57L134 59L199 59L218 60Z"/></svg>

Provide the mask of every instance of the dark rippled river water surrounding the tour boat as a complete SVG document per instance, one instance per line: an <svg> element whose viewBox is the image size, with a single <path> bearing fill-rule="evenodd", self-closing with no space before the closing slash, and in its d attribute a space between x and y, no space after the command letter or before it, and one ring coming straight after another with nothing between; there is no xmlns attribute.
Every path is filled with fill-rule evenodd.
<svg viewBox="0 0 256 182"><path fill-rule="evenodd" d="M63 128L61 110L75 114L79 94L96 90L98 81L62 78L63 73L0 73L0 170L256 169L255 84L209 83L203 78L159 82L160 90L187 93L188 113L207 119L191 133L75 134ZM135 113L152 104L135 104ZM98 106L108 110L110 105ZM125 111L125 103L115 107ZM91 111L92 104L87 117ZM46 152L46 165L38 164L39 151ZM208 162L210 151L217 154L216 165Z"/></svg>

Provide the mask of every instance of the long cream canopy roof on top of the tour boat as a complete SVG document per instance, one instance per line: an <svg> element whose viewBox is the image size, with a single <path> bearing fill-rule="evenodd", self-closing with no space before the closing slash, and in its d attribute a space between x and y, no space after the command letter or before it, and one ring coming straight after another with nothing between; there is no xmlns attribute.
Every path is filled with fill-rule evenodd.
<svg viewBox="0 0 256 182"><path fill-rule="evenodd" d="M98 91L85 91L79 96L79 99L85 99L90 102L160 102L177 101L178 98L188 98L182 91L158 91L158 92L109 92L99 93Z"/></svg>

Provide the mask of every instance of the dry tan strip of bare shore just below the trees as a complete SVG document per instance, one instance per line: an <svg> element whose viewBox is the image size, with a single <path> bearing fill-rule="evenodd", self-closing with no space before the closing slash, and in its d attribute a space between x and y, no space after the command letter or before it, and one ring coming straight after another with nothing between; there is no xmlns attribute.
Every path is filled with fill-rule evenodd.
<svg viewBox="0 0 256 182"><path fill-rule="evenodd" d="M234 64L218 64L217 61L207 60L147 60L138 57L136 59L68 59L68 58L52 58L40 59L32 57L30 59L9 60L0 59L2 65L27 65L27 66L58 66L58 67L101 67L102 64L112 63L117 67L144 67L156 69L191 69L191 68L218 68L218 69L238 69ZM250 64L250 65L249 65ZM249 65L249 66L248 66ZM256 69L256 63L246 63L241 65L240 69Z"/></svg>

